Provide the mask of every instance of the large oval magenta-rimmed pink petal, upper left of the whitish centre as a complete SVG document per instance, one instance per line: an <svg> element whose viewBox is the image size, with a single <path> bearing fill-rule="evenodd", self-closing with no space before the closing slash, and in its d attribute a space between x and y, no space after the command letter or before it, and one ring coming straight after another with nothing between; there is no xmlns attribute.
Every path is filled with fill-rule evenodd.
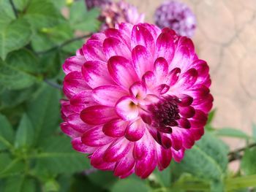
<svg viewBox="0 0 256 192"><path fill-rule="evenodd" d="M122 88L128 89L138 76L127 58L113 56L108 60L108 71L113 80Z"/></svg>

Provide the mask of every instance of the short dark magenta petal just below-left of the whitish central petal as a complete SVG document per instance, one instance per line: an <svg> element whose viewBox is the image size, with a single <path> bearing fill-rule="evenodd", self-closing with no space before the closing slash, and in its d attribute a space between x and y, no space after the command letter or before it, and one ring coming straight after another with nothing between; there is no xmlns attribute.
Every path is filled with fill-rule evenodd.
<svg viewBox="0 0 256 192"><path fill-rule="evenodd" d="M127 121L120 119L112 120L109 123L105 123L102 131L105 135L108 135L109 137L123 137L127 125Z"/></svg>

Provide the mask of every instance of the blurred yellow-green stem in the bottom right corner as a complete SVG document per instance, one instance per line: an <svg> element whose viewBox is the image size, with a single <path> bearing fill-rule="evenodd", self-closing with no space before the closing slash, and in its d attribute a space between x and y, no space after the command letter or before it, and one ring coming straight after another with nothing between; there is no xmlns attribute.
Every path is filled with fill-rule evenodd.
<svg viewBox="0 0 256 192"><path fill-rule="evenodd" d="M244 177L229 178L225 183L227 191L238 188L256 187L256 174Z"/></svg>

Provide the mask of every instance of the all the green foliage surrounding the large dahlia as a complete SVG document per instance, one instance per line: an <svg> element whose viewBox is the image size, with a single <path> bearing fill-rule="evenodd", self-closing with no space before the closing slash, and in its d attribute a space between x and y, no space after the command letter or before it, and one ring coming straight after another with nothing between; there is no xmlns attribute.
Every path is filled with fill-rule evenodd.
<svg viewBox="0 0 256 192"><path fill-rule="evenodd" d="M0 191L221 192L255 187L255 147L248 147L241 169L231 174L231 155L217 138L246 139L253 146L255 124L252 137L234 128L213 128L216 110L208 115L206 134L184 160L154 170L146 180L134 175L121 180L113 172L93 169L85 154L72 149L59 128L61 65L83 45L83 37L99 31L98 16L99 9L86 10L83 0L0 0Z"/></svg>

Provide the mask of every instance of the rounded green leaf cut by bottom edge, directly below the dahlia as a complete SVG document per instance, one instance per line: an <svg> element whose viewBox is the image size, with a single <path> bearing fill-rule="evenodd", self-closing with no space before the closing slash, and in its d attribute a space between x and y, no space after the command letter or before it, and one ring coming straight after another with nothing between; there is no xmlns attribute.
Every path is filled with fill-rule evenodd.
<svg viewBox="0 0 256 192"><path fill-rule="evenodd" d="M127 178L124 180L118 180L113 185L113 188L111 190L112 192L149 192L151 191L151 188L149 188L146 183L143 182L143 180L140 179L132 179Z"/></svg>

